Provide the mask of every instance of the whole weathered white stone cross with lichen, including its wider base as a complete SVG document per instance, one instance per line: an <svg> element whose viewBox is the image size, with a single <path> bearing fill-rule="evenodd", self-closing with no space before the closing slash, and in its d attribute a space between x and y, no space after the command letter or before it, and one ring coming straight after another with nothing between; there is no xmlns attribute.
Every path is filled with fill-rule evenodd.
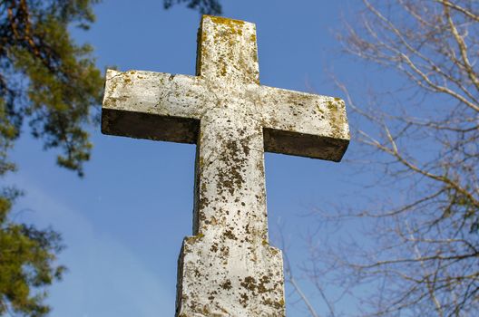
<svg viewBox="0 0 479 317"><path fill-rule="evenodd" d="M107 72L102 131L197 145L176 316L285 316L264 152L339 161L349 142L344 101L260 85L255 24L205 15L196 76Z"/></svg>

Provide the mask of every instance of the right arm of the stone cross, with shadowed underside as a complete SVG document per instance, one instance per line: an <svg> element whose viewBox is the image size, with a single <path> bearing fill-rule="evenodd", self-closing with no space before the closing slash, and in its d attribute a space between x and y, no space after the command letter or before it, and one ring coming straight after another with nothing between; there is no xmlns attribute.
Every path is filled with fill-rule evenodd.
<svg viewBox="0 0 479 317"><path fill-rule="evenodd" d="M340 161L349 144L344 101L298 91L259 87L265 150Z"/></svg>

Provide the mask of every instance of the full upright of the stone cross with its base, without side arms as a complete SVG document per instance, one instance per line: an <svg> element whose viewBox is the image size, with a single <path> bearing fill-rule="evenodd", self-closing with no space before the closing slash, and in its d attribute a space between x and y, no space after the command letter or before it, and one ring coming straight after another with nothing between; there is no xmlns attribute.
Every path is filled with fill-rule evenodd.
<svg viewBox="0 0 479 317"><path fill-rule="evenodd" d="M210 91L258 86L256 45L254 24L204 18L197 75ZM282 258L268 243L262 127L249 104L230 92L201 117L195 236L185 239L180 255L177 312L282 316Z"/></svg>

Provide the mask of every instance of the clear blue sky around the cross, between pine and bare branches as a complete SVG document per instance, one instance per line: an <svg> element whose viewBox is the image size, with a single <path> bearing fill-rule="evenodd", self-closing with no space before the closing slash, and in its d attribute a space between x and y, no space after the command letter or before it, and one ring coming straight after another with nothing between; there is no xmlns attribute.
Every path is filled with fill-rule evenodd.
<svg viewBox="0 0 479 317"><path fill-rule="evenodd" d="M261 83L344 97L329 72L364 81L364 69L339 53L334 36L358 2L223 5L224 16L257 24ZM93 44L101 69L194 73L197 12L181 5L164 11L161 0L104 0L95 13L90 31L73 34ZM50 289L51 316L173 316L177 258L183 237L191 235L194 146L104 136L99 127L92 139L83 179L57 168L54 151L44 152L27 133L13 152L19 172L7 180L27 193L17 219L53 226L67 245L60 263L69 272ZM353 143L346 159L355 149ZM274 243L283 228L293 265L305 259L303 237L317 227L304 215L312 207L355 203L361 179L352 170L347 162L266 155L270 236ZM311 300L325 312L318 297ZM294 298L287 305L288 316L308 315Z"/></svg>

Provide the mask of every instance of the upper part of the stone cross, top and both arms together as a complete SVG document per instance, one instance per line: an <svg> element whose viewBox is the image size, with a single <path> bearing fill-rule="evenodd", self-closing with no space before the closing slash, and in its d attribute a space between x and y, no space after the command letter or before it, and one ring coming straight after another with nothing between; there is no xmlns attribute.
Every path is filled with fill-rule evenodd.
<svg viewBox="0 0 479 317"><path fill-rule="evenodd" d="M107 72L103 132L196 143L197 120L207 110L241 100L251 106L237 110L249 109L260 121L266 151L339 161L349 142L344 101L259 85L257 52L255 24L204 15L197 76ZM121 118L111 120L120 110ZM154 119L132 124L133 118L147 113ZM130 124L122 124L126 119ZM152 127L152 120L163 123Z"/></svg>

